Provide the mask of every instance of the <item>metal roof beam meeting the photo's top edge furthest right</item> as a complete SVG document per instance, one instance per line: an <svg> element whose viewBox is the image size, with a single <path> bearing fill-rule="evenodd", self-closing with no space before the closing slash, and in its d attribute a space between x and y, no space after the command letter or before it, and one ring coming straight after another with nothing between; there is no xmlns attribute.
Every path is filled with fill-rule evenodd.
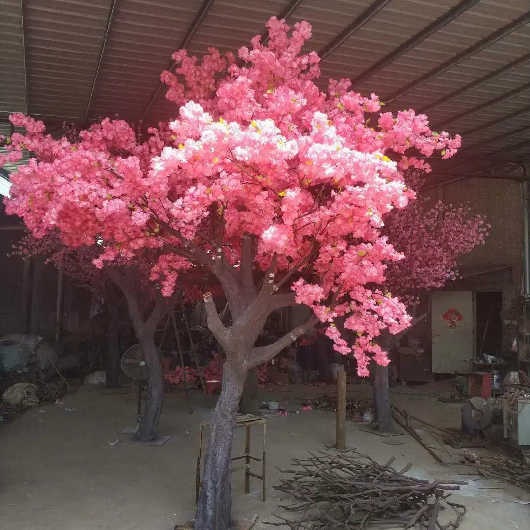
<svg viewBox="0 0 530 530"><path fill-rule="evenodd" d="M379 59L377 63L367 68L364 72L361 72L357 77L355 77L351 82L352 85L358 86L361 83L367 81L370 77L377 74L379 70L382 70L393 61L401 57L403 54L406 54L412 48L417 46L420 42L423 42L425 39L430 37L433 33L436 33L439 29L443 28L446 24L456 19L457 16L460 16L462 13L467 11L470 7L473 7L475 4L479 3L480 0L463 0L460 4L456 5L443 15L439 16L435 21L431 22L426 28L423 28L420 32L413 35L409 40L403 42L400 46L395 48L390 52L390 54L385 55L382 59Z"/></svg>

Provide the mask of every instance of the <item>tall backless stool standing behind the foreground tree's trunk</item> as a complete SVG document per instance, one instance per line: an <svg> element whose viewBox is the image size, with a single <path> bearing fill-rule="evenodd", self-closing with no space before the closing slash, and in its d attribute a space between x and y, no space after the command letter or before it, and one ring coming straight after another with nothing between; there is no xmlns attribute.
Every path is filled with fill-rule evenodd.
<svg viewBox="0 0 530 530"><path fill-rule="evenodd" d="M253 425L263 426L263 454L261 458L257 458L250 454L250 428ZM202 437L204 434L204 428L211 427L210 421L201 421L199 427L199 452L197 454L197 480L195 484L195 503L199 502L199 490L202 487L202 480L200 478L200 464L202 457ZM254 416L253 414L238 414L235 420L234 429L244 427L245 432L245 454L241 456L235 456L232 458L232 462L237 460L245 459L245 463L236 467L232 466L232 473L234 471L245 470L245 493L250 493L250 478L253 476L255 479L261 480L263 483L263 490L261 493L261 500L264 502L267 495L267 482L266 482L266 465L267 465L267 420ZM251 468L255 465L261 464L261 475L253 473Z"/></svg>

